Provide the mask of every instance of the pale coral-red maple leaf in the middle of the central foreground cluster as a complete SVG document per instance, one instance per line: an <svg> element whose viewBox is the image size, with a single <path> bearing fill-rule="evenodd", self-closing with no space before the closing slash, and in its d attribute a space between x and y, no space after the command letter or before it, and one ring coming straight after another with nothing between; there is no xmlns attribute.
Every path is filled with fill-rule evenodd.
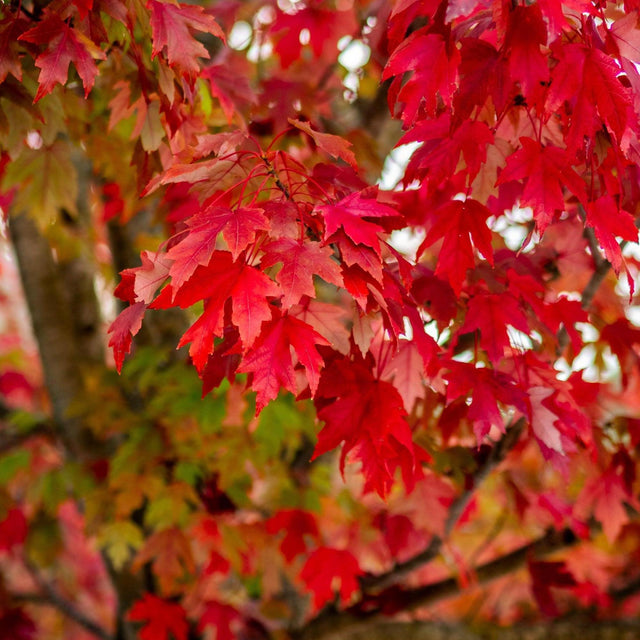
<svg viewBox="0 0 640 640"><path fill-rule="evenodd" d="M332 260L333 251L318 242L300 242L291 238L280 238L263 247L264 257L261 264L265 267L282 263L282 269L276 275L284 293L284 309L300 302L302 296L315 298L313 274L326 282L342 286L342 276L338 263Z"/></svg>

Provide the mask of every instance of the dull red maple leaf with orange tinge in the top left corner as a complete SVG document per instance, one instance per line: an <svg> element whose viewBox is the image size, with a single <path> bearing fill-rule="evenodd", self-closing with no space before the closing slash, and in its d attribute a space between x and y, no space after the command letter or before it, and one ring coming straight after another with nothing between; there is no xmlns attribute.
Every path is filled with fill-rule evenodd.
<svg viewBox="0 0 640 640"><path fill-rule="evenodd" d="M94 60L105 60L105 53L80 31L69 26L54 13L23 33L19 40L48 45L36 58L40 68L35 102L51 93L56 83L66 84L69 64L73 62L84 85L85 98L93 88L98 68Z"/></svg>

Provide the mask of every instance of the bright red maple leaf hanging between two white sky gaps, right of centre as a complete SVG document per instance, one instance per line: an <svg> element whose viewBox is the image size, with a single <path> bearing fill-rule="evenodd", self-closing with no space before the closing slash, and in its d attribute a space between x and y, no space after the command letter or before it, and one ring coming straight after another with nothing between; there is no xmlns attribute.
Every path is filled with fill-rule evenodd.
<svg viewBox="0 0 640 640"><path fill-rule="evenodd" d="M493 264L491 230L487 218L491 212L476 200L451 200L434 212L435 221L418 254L442 240L438 253L436 275L447 278L457 295L460 294L467 270L475 265L473 246ZM472 244L473 241L473 244Z"/></svg>

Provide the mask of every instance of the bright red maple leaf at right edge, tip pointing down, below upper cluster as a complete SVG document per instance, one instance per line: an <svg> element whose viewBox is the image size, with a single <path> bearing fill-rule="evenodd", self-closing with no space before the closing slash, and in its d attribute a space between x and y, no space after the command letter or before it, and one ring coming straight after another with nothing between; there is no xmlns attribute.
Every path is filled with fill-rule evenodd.
<svg viewBox="0 0 640 640"><path fill-rule="evenodd" d="M638 229L633 216L620 209L612 196L604 195L587 206L585 224L593 228L600 246L604 249L604 255L611 262L615 272L619 273L622 251L616 237L631 242L638 240Z"/></svg>

